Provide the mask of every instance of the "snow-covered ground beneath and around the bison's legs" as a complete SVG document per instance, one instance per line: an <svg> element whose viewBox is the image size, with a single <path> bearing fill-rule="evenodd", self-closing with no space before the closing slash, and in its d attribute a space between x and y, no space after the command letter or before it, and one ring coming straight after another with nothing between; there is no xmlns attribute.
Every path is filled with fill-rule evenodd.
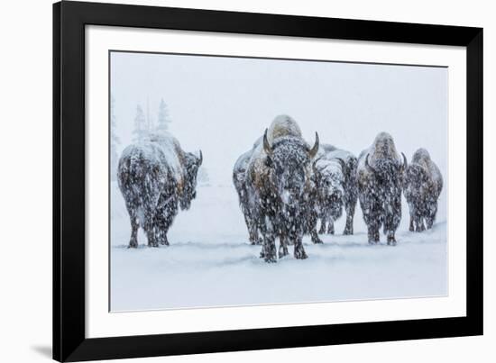
<svg viewBox="0 0 496 363"><path fill-rule="evenodd" d="M368 244L358 207L353 236L341 235L342 217L324 244L305 238L308 259L289 254L276 264L259 259L261 247L248 243L234 186L198 187L190 210L170 228L169 247L146 247L140 230L140 247L127 249L129 218L115 183L111 203L112 311L447 294L446 223L409 232L404 200L396 247L382 235L380 245ZM444 209L441 201L440 215Z"/></svg>

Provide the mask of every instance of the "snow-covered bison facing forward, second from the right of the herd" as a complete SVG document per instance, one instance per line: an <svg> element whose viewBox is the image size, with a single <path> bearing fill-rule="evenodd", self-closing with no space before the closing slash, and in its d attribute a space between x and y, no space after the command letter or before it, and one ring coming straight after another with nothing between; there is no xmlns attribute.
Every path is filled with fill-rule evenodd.
<svg viewBox="0 0 496 363"><path fill-rule="evenodd" d="M401 156L402 159L390 134L381 132L358 158L358 196L369 243L379 242L383 225L388 244L396 245L394 234L401 221L401 183L408 167L405 154Z"/></svg>

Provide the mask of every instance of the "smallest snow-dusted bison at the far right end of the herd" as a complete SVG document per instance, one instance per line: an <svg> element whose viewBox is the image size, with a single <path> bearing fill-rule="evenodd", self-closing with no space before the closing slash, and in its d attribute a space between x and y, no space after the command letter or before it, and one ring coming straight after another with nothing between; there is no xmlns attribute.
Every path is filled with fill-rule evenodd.
<svg viewBox="0 0 496 363"><path fill-rule="evenodd" d="M409 203L410 231L430 229L436 220L437 198L443 189L443 176L425 149L413 154L403 181L403 194ZM424 226L424 221L426 225Z"/></svg>

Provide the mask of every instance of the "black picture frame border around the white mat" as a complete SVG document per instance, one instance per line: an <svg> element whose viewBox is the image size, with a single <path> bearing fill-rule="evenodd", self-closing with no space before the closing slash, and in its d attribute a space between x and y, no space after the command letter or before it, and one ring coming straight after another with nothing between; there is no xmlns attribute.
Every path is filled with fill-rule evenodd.
<svg viewBox="0 0 496 363"><path fill-rule="evenodd" d="M85 26L466 47L466 317L87 339ZM53 5L53 358L80 361L482 334L482 28L138 5Z"/></svg>

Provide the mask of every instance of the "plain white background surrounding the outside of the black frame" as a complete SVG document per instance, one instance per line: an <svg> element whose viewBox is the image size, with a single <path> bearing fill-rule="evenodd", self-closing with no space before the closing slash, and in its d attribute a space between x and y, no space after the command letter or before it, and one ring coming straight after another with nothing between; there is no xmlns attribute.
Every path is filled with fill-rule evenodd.
<svg viewBox="0 0 496 363"><path fill-rule="evenodd" d="M121 1L121 3L124 1ZM133 362L494 360L496 353L495 216L496 23L490 1L170 0L129 3L304 14L484 28L484 331L483 337L279 349ZM3 2L0 14L0 360L51 357L51 1ZM489 186L489 187L488 187ZM5 234L6 232L6 234ZM379 333L379 332L378 332ZM129 360L131 361L131 360Z"/></svg>

